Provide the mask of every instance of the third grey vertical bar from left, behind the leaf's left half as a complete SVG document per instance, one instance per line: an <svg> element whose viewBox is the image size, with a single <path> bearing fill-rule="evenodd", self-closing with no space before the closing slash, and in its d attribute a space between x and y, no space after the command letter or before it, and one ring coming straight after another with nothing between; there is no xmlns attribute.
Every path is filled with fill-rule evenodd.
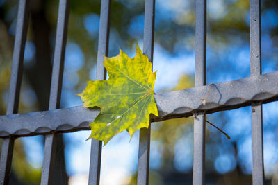
<svg viewBox="0 0 278 185"><path fill-rule="evenodd" d="M99 21L99 46L97 51L97 74L96 80L106 79L106 70L104 68L103 55L108 55L109 30L110 30L110 10L111 0L101 0L101 11ZM101 147L102 141L92 139L89 184L98 185L101 166Z"/></svg>

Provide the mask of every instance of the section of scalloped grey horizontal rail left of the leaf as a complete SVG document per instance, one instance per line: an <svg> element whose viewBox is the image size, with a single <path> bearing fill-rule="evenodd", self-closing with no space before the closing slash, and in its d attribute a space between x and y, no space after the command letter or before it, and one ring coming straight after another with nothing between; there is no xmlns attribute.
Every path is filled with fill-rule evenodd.
<svg viewBox="0 0 278 185"><path fill-rule="evenodd" d="M13 132L15 136L28 136L54 131L74 132L76 130L88 130L89 123L95 119L97 114L99 114L97 109L86 109L80 106L0 116L0 130L2 136L8 136L9 132ZM17 128L13 128L14 126Z"/></svg>

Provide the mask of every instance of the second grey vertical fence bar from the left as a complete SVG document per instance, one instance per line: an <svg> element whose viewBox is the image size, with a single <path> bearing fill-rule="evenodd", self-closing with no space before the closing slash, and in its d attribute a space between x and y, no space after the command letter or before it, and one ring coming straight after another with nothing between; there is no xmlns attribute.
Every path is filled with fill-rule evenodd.
<svg viewBox="0 0 278 185"><path fill-rule="evenodd" d="M51 77L49 109L57 109L60 107L60 94L63 81L65 44L67 42L67 24L69 11L70 0L60 0L56 30L56 44L54 51L54 64ZM63 148L62 139L62 134L54 133L47 134L45 136L44 161L42 164L42 178L40 184L67 184L65 159L63 158L63 154L59 156L60 159L56 157L57 149ZM58 143L60 143L62 146L58 146ZM54 168L55 165L57 168ZM54 178L54 172L60 172L62 174L56 175L57 177Z"/></svg>

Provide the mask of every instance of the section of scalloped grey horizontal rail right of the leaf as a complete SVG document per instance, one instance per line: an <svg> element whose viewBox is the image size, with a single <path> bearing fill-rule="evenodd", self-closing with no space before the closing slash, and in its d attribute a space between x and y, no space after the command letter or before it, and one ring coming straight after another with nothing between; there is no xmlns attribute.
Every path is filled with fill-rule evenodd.
<svg viewBox="0 0 278 185"><path fill-rule="evenodd" d="M208 89L210 94L206 98ZM236 109L251 105L252 101L268 103L277 100L277 93L278 71L230 82L156 94L154 98L159 116L154 118L154 121L188 117L202 110L210 114ZM200 100L201 98L206 98L205 105Z"/></svg>

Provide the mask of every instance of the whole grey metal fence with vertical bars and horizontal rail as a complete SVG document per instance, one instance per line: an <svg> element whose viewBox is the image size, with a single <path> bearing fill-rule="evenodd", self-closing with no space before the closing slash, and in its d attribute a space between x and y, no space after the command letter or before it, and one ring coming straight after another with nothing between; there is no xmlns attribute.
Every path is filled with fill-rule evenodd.
<svg viewBox="0 0 278 185"><path fill-rule="evenodd" d="M41 184L67 184L65 164L55 168L59 161L57 146L62 143L60 133L90 130L89 123L99 113L82 106L59 109L63 78L69 0L60 0L54 64L51 78L49 111L17 114L19 91L22 82L24 46L28 28L29 1L19 0L17 28L13 53L13 68L6 116L0 116L0 137L3 138L0 161L0 184L8 184L15 138L45 135L44 161ZM278 99L278 71L261 75L261 1L250 0L250 77L230 82L206 85L206 0L196 0L195 87L180 91L156 94L159 116L152 121L170 118L195 117L193 150L193 184L204 184L205 116L213 112L252 106L253 184L264 184L263 169L263 115L262 104ZM110 0L101 0L99 46L97 54L97 80L106 78L102 54L108 55ZM143 52L153 58L155 1L145 1ZM206 103L200 100L206 97ZM138 184L148 184L149 179L149 129L140 130L138 155ZM89 184L99 184L101 141L92 139ZM63 158L63 157L62 157ZM63 161L63 160L62 160ZM64 178L63 178L64 177Z"/></svg>

